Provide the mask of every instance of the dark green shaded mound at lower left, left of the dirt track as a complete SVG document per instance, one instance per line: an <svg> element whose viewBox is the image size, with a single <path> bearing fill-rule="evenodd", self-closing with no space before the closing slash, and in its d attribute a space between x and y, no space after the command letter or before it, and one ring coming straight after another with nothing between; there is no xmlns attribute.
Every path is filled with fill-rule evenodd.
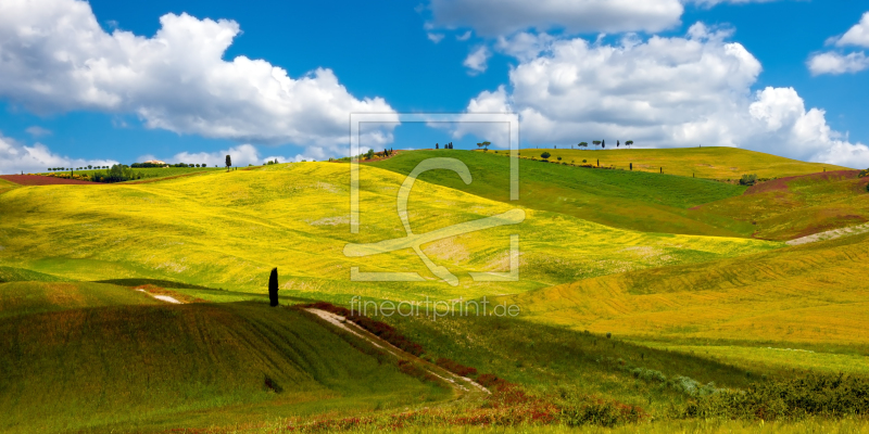
<svg viewBox="0 0 869 434"><path fill-rule="evenodd" d="M46 293L45 303L52 305L55 295ZM5 317L0 347L3 432L206 427L451 394L400 373L367 344L306 314L261 303ZM264 375L284 392L266 390Z"/></svg>

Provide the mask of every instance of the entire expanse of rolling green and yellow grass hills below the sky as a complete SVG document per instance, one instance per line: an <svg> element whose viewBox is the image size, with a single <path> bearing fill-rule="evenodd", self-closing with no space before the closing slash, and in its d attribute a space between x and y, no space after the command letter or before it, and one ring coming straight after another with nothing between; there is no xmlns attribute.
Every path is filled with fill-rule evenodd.
<svg viewBox="0 0 869 434"><path fill-rule="evenodd" d="M867 221L869 178L722 148L546 151L637 162L631 171L519 159L520 200L512 202L503 155L402 152L361 166L360 233L350 232L347 164L173 178L197 170L186 169L97 188L0 180L0 408L9 414L0 431L265 433L375 418L345 426L449 431L449 420L477 432L483 419L475 418L520 418L571 399L645 414L612 432L869 430L860 418L673 419L701 390L746 391L813 372L869 376L869 233L783 242ZM474 181L424 174L407 206L414 233L516 208L525 220L421 245L457 286L410 248L344 256L348 243L405 237L396 193L433 156L461 159ZM643 169L653 165L665 174ZM752 188L714 180L736 173L795 178ZM473 281L469 271L507 269L512 234L519 281ZM273 267L279 308L265 303ZM425 281L353 282L351 267ZM494 386L491 397L456 400L446 383L407 374L394 357L288 307L347 306L354 296L515 304L517 318L375 319L420 344L426 359L498 375L531 404L506 405Z"/></svg>

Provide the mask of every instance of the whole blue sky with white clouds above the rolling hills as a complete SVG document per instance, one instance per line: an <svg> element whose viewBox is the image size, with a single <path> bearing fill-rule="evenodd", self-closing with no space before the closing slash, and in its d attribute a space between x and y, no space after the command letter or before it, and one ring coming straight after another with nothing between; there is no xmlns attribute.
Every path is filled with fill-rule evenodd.
<svg viewBox="0 0 869 434"><path fill-rule="evenodd" d="M869 3L525 3L4 1L0 173L322 159L347 152L364 111L515 112L522 146L631 139L869 166ZM407 124L363 144L499 133Z"/></svg>

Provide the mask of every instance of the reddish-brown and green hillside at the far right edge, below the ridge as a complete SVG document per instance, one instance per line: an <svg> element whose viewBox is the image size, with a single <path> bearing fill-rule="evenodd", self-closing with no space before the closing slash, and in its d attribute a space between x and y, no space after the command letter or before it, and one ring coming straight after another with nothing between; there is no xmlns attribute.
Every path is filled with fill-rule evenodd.
<svg viewBox="0 0 869 434"><path fill-rule="evenodd" d="M780 179L698 210L753 221L756 238L791 240L869 220L868 182L856 170Z"/></svg>

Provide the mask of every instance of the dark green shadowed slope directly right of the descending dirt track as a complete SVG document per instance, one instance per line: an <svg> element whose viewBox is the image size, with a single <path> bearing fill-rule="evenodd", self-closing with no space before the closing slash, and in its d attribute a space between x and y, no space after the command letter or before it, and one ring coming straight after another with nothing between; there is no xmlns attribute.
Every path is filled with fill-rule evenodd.
<svg viewBox="0 0 869 434"><path fill-rule="evenodd" d="M383 319L383 318L379 318ZM745 387L745 370L694 355L653 349L559 327L509 317L400 317L383 319L420 343L433 357L446 357L543 395L563 391L638 405L663 417L688 396L656 381L637 380L644 368L667 378L685 375L702 384ZM621 361L619 361L621 360ZM624 366L621 365L624 362ZM785 374L784 370L755 371Z"/></svg>

